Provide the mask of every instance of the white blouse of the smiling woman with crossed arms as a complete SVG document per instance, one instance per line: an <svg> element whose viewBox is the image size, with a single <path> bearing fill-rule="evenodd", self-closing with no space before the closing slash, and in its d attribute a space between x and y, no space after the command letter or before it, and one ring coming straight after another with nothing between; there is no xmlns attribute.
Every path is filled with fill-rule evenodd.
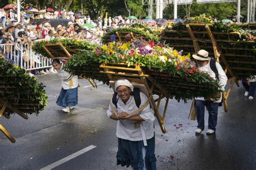
<svg viewBox="0 0 256 170"><path fill-rule="evenodd" d="M140 100L141 104L144 105L147 101L147 96L140 92ZM124 102L119 98L117 102L117 108L112 103L112 98L110 103L113 105L113 108L117 111L117 113L120 112L127 112L127 114L131 114L133 111L138 110L138 107L135 103L134 97L131 95L129 100L124 104ZM107 117L110 117L113 114L112 109L109 105L109 110L107 110ZM137 126L134 128L134 123L138 121L130 121L128 119L125 120L119 120L117 121L117 132L116 135L118 138L131 140L131 141L140 141L143 140L143 132L142 129L145 132L146 139L151 139L154 136L154 114L150 110L150 105L148 104L145 109L140 111L138 113L140 117L142 117L145 121L142 122L142 126Z"/></svg>

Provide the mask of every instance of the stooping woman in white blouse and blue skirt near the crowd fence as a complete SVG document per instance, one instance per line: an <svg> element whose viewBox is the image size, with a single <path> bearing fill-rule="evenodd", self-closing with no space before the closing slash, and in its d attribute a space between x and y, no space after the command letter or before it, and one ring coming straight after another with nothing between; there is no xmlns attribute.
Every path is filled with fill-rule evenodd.
<svg viewBox="0 0 256 170"><path fill-rule="evenodd" d="M64 112L70 112L78 104L78 77L71 75L62 68L62 64L58 59L52 61L52 66L62 80L62 90L57 99L57 105L65 107Z"/></svg>

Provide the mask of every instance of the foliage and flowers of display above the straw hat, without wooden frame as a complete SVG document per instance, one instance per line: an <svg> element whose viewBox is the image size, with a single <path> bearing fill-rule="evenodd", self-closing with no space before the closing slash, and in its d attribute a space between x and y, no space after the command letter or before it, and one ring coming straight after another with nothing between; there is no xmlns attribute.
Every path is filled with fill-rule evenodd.
<svg viewBox="0 0 256 170"><path fill-rule="evenodd" d="M184 23L179 23L171 28L166 28L163 32L163 37L161 37L161 41L164 41L166 44L178 50L183 49L185 54L194 53L194 44L186 24L194 24L195 22L212 24L210 26L211 32L217 41L221 54L225 57L234 75L237 76L238 79L255 75L256 60L254 56L256 55L256 38L253 34L249 34L252 32L250 28L253 28L254 25L214 23L209 19L210 18L207 18L205 15L201 15L199 17L192 17ZM198 40L200 48L205 49L213 56L212 40L204 25L192 25L190 27ZM244 29L246 29L246 31L244 31ZM224 66L221 58L220 64ZM226 66L224 66L224 69L225 68ZM229 72L227 76L231 77Z"/></svg>

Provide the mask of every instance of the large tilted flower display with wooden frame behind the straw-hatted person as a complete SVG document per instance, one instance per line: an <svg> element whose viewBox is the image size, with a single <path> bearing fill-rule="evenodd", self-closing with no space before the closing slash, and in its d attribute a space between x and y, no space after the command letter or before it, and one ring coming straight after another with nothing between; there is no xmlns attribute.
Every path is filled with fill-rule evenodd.
<svg viewBox="0 0 256 170"><path fill-rule="evenodd" d="M247 31L242 30L242 27L247 27ZM226 100L233 84L239 86L238 80L242 77L256 75L256 38L248 34L255 33L250 27L253 28L249 25L214 23L201 15L166 27L161 42L178 51L182 49L184 54L205 49L220 63L231 83L230 88L223 93L224 109L227 111Z"/></svg>

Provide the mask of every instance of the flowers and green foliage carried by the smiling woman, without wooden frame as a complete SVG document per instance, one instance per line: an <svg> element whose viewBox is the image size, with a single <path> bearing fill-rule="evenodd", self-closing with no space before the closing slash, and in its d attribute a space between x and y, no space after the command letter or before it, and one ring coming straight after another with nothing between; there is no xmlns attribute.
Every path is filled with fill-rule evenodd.
<svg viewBox="0 0 256 170"><path fill-rule="evenodd" d="M65 69L70 69L76 75L83 74L83 69L93 65L98 67L100 63L126 63L127 67L140 65L147 74L164 75L162 77L175 77L177 84L185 83L186 89L177 88L169 90L178 101L190 99L194 96L204 96L210 98L218 93L221 89L217 81L211 79L206 73L200 72L194 63L190 60L190 54L182 55L182 51L177 51L171 47L165 47L160 43L153 41L110 42L107 45L99 46L93 51L81 52L73 55L66 63ZM90 69L92 69L90 67ZM85 76L102 81L102 76L91 75ZM152 74L153 76L153 74ZM105 80L103 80L104 82ZM106 82L106 81L105 81ZM199 90L190 91L189 85L193 84ZM201 90L203 86L208 90ZM210 90L209 90L210 89Z"/></svg>

